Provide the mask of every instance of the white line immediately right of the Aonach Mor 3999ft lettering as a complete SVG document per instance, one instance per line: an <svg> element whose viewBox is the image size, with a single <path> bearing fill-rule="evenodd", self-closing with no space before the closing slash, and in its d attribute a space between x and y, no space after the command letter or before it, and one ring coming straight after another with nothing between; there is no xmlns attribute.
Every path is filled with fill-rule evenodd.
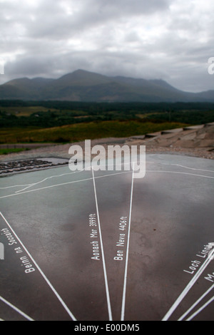
<svg viewBox="0 0 214 335"><path fill-rule="evenodd" d="M107 278L107 272L106 272L105 255L104 255L104 250L103 250L103 238L102 238L102 232L101 232L101 222L100 222L100 215L99 215L99 210L98 210L98 201L97 201L97 195L96 195L96 184L95 184L95 179L94 179L93 168L91 170L92 170L92 175L93 175L93 189L94 189L94 195L95 195L95 201L96 201L96 213L97 213L97 220L98 220L98 229L99 229L99 235L100 235L100 240L101 240L103 272L104 272L104 279L105 279L105 285L106 285L106 298L107 298L107 304L108 304L108 317L109 317L109 321L112 321L111 301L110 301L109 289L108 289L108 278Z"/></svg>

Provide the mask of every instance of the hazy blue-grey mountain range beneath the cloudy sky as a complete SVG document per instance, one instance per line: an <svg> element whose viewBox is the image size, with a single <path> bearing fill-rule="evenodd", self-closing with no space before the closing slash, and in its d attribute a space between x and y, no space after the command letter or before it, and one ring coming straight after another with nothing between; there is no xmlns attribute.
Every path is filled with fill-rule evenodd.
<svg viewBox="0 0 214 335"><path fill-rule="evenodd" d="M0 100L88 102L214 102L214 91L188 93L161 79L103 76L84 70L61 78L17 78L0 86Z"/></svg>

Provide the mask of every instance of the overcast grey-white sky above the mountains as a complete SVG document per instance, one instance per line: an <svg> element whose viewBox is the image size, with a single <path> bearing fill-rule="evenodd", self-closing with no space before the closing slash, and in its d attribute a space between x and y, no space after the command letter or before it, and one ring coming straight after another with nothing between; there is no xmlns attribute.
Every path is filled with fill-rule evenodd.
<svg viewBox="0 0 214 335"><path fill-rule="evenodd" d="M0 0L0 83L81 68L198 92L210 57L213 0Z"/></svg>

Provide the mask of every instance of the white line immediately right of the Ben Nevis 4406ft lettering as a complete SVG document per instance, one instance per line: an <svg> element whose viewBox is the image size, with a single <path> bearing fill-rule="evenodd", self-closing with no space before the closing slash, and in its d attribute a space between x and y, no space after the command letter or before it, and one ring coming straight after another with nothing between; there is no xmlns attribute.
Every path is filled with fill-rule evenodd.
<svg viewBox="0 0 214 335"><path fill-rule="evenodd" d="M124 274L124 281L123 281L123 299L122 299L122 308L121 308L121 321L124 321L125 306L126 306L126 284L127 284L127 273L128 273L128 252L129 252L129 240L130 240L130 231L131 231L131 210L132 210L132 200L133 200L133 174L134 174L134 163L133 163L132 180L131 180L131 197L130 197L130 205L129 205L128 237L127 237L127 247L126 247L126 266L125 266L125 274Z"/></svg>

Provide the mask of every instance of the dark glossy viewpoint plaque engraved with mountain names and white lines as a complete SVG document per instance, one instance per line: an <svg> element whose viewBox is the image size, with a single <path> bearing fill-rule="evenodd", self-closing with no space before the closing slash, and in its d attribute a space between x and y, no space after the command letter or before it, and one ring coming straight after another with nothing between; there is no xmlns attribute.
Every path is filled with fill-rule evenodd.
<svg viewBox="0 0 214 335"><path fill-rule="evenodd" d="M213 191L180 155L0 178L0 319L213 320Z"/></svg>

